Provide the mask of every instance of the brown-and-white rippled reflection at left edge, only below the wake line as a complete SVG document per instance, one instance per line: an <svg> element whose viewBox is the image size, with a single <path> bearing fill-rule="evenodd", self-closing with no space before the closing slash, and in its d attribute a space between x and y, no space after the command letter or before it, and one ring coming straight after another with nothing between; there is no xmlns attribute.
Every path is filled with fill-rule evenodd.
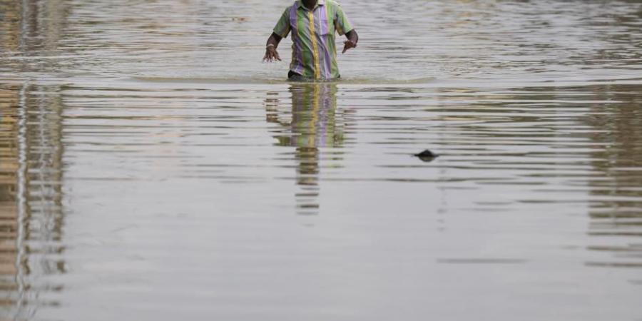
<svg viewBox="0 0 642 321"><path fill-rule="evenodd" d="M56 87L0 86L2 315L26 320L58 305L62 285L61 98Z"/></svg>

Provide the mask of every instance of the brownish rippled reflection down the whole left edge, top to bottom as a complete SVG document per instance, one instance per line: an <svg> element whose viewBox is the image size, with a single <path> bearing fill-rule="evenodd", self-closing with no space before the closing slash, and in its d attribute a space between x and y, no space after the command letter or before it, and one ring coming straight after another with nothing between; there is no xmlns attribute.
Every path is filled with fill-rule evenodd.
<svg viewBox="0 0 642 321"><path fill-rule="evenodd" d="M0 51L54 54L68 15L61 0L0 1ZM46 71L52 61L17 60L14 72ZM46 302L44 282L61 259L61 96L56 86L0 86L0 315L24 320Z"/></svg>

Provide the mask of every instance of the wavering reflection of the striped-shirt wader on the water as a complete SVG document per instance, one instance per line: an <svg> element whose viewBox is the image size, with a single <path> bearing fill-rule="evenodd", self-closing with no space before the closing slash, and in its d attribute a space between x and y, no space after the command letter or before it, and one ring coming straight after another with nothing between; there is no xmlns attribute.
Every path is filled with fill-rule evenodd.
<svg viewBox="0 0 642 321"><path fill-rule="evenodd" d="M319 208L320 148L341 146L343 133L337 125L337 86L331 83L297 83L290 87L292 110L280 109L278 100L267 99L267 121L284 130L275 136L279 146L294 146L297 159L297 207L300 213ZM290 115L288 115L290 114Z"/></svg>

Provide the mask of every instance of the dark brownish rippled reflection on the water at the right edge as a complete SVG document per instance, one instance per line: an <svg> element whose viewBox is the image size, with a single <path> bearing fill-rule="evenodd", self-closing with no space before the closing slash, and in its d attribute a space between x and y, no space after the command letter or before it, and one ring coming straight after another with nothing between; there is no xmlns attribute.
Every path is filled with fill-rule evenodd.
<svg viewBox="0 0 642 321"><path fill-rule="evenodd" d="M642 86L604 86L596 98L613 103L591 106L587 123L596 128L591 141L591 167L599 173L590 180L591 235L619 238L619 245L591 246L616 253L618 258L640 258L642 248L630 241L642 237ZM616 239L614 239L616 240ZM641 266L641 263L591 263Z"/></svg>

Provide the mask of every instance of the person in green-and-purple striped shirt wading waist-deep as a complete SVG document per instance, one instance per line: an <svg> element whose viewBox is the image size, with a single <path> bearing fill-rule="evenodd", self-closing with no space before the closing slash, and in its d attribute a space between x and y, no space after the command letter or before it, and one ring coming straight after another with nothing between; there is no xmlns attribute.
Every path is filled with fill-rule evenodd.
<svg viewBox="0 0 642 321"><path fill-rule="evenodd" d="M335 31L347 37L343 53L355 48L359 36L334 0L298 0L285 9L267 39L263 61L280 61L276 49L292 31L292 63L287 78L312 81L339 78Z"/></svg>

